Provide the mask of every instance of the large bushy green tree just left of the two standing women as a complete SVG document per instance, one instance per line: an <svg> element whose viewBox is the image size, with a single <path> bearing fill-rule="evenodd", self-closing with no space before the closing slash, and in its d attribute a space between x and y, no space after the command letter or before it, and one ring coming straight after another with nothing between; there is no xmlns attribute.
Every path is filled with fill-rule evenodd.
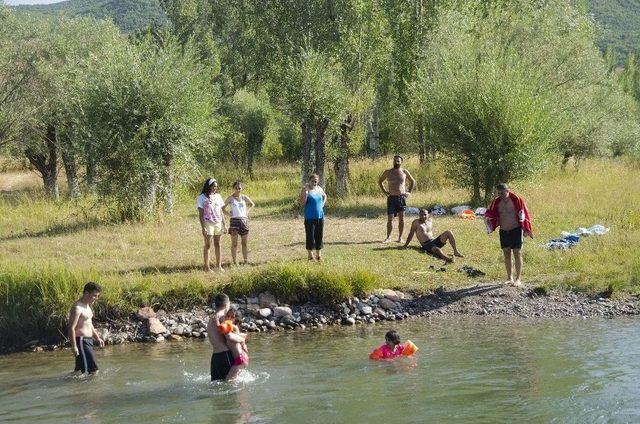
<svg viewBox="0 0 640 424"><path fill-rule="evenodd" d="M121 218L144 218L160 193L166 204L174 180L215 136L207 72L171 37L143 38L88 66L79 126L99 158L98 189Z"/></svg>

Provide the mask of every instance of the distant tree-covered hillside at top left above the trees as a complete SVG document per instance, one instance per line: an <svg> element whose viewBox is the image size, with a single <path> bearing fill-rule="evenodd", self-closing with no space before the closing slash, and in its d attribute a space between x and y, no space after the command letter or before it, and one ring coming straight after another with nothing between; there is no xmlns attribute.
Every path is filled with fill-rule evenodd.
<svg viewBox="0 0 640 424"><path fill-rule="evenodd" d="M158 0L67 0L54 4L17 6L17 10L71 16L93 16L113 19L124 32L133 32L149 25L167 22Z"/></svg>

